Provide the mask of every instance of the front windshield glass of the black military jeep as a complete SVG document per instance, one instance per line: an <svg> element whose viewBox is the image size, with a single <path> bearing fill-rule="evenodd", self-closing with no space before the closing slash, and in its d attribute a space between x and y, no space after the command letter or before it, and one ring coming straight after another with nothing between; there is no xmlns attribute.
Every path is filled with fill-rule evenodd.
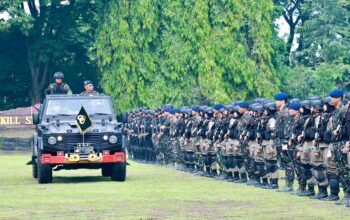
<svg viewBox="0 0 350 220"><path fill-rule="evenodd" d="M89 115L110 115L108 99L54 99L48 100L46 116L76 116L84 106Z"/></svg>

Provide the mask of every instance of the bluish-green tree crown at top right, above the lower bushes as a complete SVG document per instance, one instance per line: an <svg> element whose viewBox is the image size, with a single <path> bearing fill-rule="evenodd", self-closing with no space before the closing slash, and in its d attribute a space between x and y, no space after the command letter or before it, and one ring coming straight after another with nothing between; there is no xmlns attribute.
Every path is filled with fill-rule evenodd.
<svg viewBox="0 0 350 220"><path fill-rule="evenodd" d="M305 4L307 21L300 28L303 46L296 64L317 67L320 63L346 63L350 55L350 13L346 1L314 0Z"/></svg>

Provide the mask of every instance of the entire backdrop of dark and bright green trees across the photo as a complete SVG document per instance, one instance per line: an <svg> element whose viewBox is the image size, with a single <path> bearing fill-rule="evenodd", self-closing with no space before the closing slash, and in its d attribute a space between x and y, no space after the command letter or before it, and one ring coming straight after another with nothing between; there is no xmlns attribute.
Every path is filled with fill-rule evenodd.
<svg viewBox="0 0 350 220"><path fill-rule="evenodd" d="M0 13L0 109L38 102L55 71L75 92L99 81L118 110L350 89L350 0L14 0Z"/></svg>

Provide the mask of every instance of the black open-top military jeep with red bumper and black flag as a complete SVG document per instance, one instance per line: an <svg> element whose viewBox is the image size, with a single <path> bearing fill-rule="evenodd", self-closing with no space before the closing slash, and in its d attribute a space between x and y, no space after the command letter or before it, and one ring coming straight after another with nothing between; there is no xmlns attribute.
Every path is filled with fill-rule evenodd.
<svg viewBox="0 0 350 220"><path fill-rule="evenodd" d="M39 183L51 183L53 170L81 168L102 169L103 176L125 181L123 124L109 96L48 95L33 123L31 164Z"/></svg>

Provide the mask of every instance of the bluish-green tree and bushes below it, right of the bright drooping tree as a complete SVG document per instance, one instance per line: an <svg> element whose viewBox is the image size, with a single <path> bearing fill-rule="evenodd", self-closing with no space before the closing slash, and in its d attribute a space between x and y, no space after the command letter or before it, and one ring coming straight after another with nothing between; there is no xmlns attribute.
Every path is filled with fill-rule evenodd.
<svg viewBox="0 0 350 220"><path fill-rule="evenodd" d="M300 45L292 54L293 66L282 86L294 95L326 95L350 85L349 1L305 1L298 33ZM310 83L312 82L312 83ZM293 84L293 85L291 85ZM297 91L299 90L299 91Z"/></svg>

